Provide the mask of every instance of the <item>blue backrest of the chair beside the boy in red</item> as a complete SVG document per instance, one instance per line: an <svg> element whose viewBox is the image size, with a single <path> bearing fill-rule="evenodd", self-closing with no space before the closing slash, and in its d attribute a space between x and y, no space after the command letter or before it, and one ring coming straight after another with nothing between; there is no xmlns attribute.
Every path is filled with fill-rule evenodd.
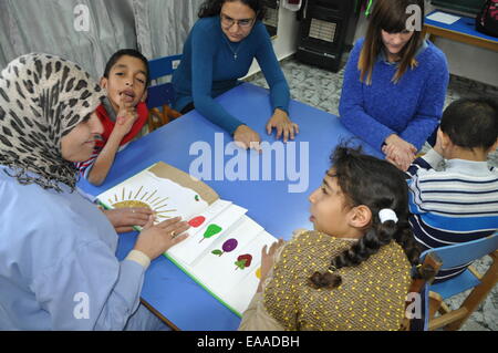
<svg viewBox="0 0 498 353"><path fill-rule="evenodd" d="M147 90L147 107L172 106L175 102L175 90L170 82L157 84L156 80L170 75L178 66L181 55L157 58L148 61L149 76L153 84Z"/></svg>

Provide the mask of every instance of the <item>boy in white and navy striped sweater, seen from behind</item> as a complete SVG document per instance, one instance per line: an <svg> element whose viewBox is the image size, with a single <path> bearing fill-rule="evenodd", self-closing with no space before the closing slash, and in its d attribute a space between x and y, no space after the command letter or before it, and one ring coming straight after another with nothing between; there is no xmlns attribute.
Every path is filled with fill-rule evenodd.
<svg viewBox="0 0 498 353"><path fill-rule="evenodd" d="M407 173L409 224L426 249L484 238L498 229L498 170L487 164L498 147L498 104L464 98L444 112L437 142ZM446 167L434 168L444 159ZM440 271L436 281L460 274L467 266Z"/></svg>

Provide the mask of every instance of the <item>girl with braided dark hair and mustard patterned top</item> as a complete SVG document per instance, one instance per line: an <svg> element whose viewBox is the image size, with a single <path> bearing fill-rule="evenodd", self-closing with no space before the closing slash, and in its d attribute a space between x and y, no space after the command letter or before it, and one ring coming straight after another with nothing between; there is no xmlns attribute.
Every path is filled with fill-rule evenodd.
<svg viewBox="0 0 498 353"><path fill-rule="evenodd" d="M260 285L239 330L400 329L419 257L404 176L344 146L331 160L309 197L314 230L262 249Z"/></svg>

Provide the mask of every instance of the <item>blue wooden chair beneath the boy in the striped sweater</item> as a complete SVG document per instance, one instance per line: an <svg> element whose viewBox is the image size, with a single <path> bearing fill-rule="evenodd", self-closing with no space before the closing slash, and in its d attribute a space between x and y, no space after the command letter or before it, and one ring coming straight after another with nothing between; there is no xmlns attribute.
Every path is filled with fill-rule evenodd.
<svg viewBox="0 0 498 353"><path fill-rule="evenodd" d="M454 246L430 249L421 255L424 260L430 253L436 253L443 261L439 270L460 267L488 255L492 263L483 276L473 267L447 281L428 287L428 330L459 330L470 314L486 299L498 281L498 233L474 241ZM471 289L458 309L450 310L443 301ZM435 316L439 312L439 316Z"/></svg>

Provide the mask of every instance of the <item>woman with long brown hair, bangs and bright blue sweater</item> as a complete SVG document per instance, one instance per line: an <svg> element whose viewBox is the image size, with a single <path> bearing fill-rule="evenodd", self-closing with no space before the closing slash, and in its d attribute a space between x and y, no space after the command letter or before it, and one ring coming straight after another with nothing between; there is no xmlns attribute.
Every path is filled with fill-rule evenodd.
<svg viewBox="0 0 498 353"><path fill-rule="evenodd" d="M407 12L409 6L419 12ZM414 15L421 28L407 27ZM344 126L403 170L438 126L449 80L445 54L422 37L423 21L423 0L375 1L339 104Z"/></svg>

